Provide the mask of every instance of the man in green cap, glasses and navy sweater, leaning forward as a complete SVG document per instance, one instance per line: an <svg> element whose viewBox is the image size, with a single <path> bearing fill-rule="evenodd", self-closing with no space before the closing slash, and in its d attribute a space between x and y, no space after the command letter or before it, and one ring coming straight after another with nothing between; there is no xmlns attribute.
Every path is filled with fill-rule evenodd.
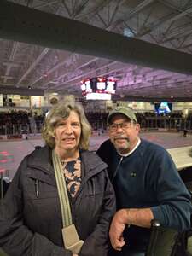
<svg viewBox="0 0 192 256"><path fill-rule="evenodd" d="M97 154L108 164L117 198L109 255L144 255L153 219L178 231L189 229L190 195L166 149L139 137L130 108L113 109L108 125L110 140Z"/></svg>

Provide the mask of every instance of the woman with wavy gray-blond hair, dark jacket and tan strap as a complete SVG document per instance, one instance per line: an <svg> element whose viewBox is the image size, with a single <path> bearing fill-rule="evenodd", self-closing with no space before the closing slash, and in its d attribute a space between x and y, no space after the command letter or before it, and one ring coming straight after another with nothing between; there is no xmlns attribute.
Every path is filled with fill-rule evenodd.
<svg viewBox="0 0 192 256"><path fill-rule="evenodd" d="M87 150L90 125L81 105L57 104L43 137L46 145L22 160L1 202L0 247L10 256L107 255L115 199L106 164ZM78 252L64 245L74 230Z"/></svg>

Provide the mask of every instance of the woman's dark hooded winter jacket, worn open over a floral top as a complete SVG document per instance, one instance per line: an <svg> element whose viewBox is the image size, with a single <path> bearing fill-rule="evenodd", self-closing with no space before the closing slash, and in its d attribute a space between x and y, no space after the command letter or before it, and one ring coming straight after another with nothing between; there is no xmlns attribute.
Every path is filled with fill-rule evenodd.
<svg viewBox="0 0 192 256"><path fill-rule="evenodd" d="M61 207L51 150L36 148L21 162L0 206L0 247L10 256L71 256L63 247ZM107 165L84 151L83 179L72 200L73 224L84 240L79 256L107 255L109 223L115 211Z"/></svg>

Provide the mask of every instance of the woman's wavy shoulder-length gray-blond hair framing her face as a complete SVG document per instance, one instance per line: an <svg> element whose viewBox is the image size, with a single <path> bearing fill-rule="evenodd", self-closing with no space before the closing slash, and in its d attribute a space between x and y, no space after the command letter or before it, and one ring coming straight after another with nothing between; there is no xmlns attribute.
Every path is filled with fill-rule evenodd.
<svg viewBox="0 0 192 256"><path fill-rule="evenodd" d="M55 125L61 119L67 119L71 111L74 111L79 115L81 125L79 148L83 150L87 150L89 148L91 134L90 124L85 117L82 105L79 102L75 102L71 97L67 97L56 104L45 118L42 136L45 143L48 144L50 148L55 148Z"/></svg>

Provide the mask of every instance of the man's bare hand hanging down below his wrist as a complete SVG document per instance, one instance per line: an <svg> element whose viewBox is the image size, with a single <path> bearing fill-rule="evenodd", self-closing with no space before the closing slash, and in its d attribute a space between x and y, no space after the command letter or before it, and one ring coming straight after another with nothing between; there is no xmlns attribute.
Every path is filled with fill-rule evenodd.
<svg viewBox="0 0 192 256"><path fill-rule="evenodd" d="M114 214L109 230L110 241L115 250L121 251L121 248L125 245L123 231L126 224L127 212L125 209L121 209Z"/></svg>

